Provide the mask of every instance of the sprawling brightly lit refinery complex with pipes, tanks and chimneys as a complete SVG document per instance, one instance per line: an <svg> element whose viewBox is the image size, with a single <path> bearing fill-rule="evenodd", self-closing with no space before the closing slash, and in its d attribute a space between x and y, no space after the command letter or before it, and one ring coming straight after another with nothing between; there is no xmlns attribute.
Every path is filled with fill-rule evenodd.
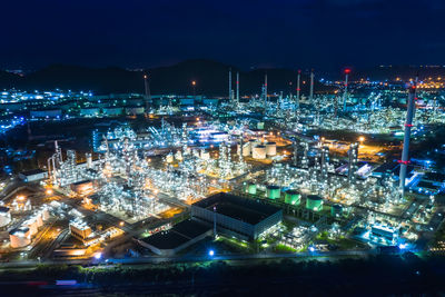
<svg viewBox="0 0 445 297"><path fill-rule="evenodd" d="M442 97L436 90L418 90L415 81L408 90L363 83L370 91L362 93L348 86L348 76L335 92L322 93L312 71L309 92L303 93L298 72L297 92L284 95L269 93L266 75L259 95L241 97L243 78L229 71L227 98L209 106L194 106L196 98L188 98L192 109L175 105L175 97L151 97L146 79L146 95L128 97L145 107L134 110L145 113L144 125L117 121L108 130L93 129L89 151L56 140L44 174L22 178L48 194L16 196L0 207L8 250L28 247L32 254L48 219L62 226L56 238L73 246L56 245L53 255L70 257L111 253L119 238L171 256L205 236L259 242L265 251L280 246L328 251L347 240L360 242L364 250L424 248L417 240L442 221L436 196L445 178L424 160L412 159L409 141L445 121ZM423 100L415 103L418 97ZM155 99L160 103L155 106ZM392 107L395 102L403 107ZM93 107L88 108L82 115L93 116ZM400 145L375 143L375 136ZM55 201L43 204L49 197ZM212 199L218 202L207 205ZM253 232L265 209L279 217ZM176 226L178 221L185 222ZM246 221L254 222L249 227ZM168 248L162 251L164 244Z"/></svg>

